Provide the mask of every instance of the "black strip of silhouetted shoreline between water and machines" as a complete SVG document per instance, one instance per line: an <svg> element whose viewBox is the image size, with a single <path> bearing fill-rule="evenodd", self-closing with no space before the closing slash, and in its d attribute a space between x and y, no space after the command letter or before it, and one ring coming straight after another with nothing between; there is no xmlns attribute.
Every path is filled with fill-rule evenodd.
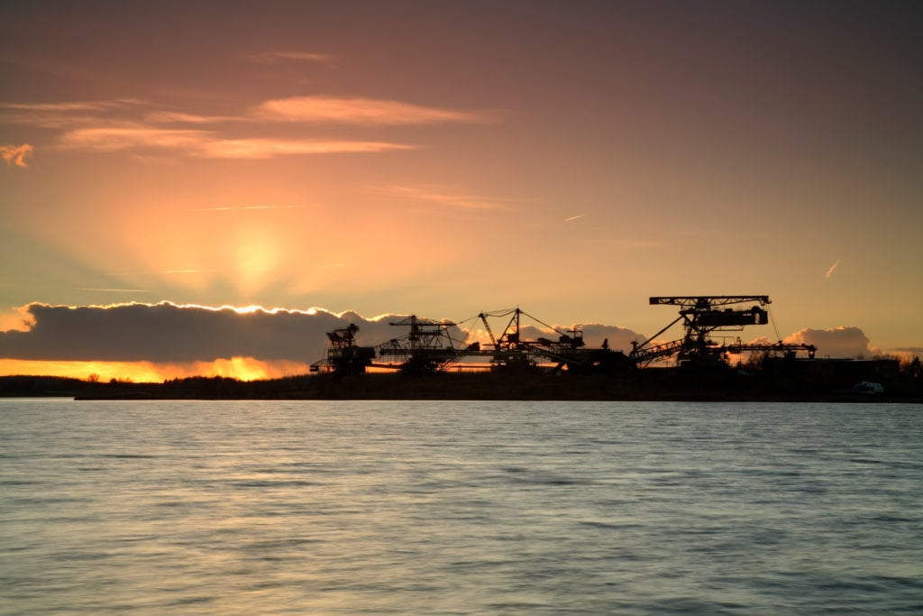
<svg viewBox="0 0 923 616"><path fill-rule="evenodd" d="M872 380L884 393L861 393ZM0 397L78 399L305 400L923 400L919 370L888 362L767 362L760 370L648 368L619 375L548 374L541 370L430 375L330 374L274 380L192 377L133 383L57 377L0 377Z"/></svg>

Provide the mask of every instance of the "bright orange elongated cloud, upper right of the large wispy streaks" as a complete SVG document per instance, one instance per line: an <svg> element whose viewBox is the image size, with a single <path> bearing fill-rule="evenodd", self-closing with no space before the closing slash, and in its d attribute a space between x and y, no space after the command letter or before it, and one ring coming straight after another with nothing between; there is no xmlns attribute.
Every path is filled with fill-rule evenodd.
<svg viewBox="0 0 923 616"><path fill-rule="evenodd" d="M259 104L252 115L279 122L356 125L422 125L447 122L483 123L484 112L425 107L400 101L333 96L293 96Z"/></svg>

